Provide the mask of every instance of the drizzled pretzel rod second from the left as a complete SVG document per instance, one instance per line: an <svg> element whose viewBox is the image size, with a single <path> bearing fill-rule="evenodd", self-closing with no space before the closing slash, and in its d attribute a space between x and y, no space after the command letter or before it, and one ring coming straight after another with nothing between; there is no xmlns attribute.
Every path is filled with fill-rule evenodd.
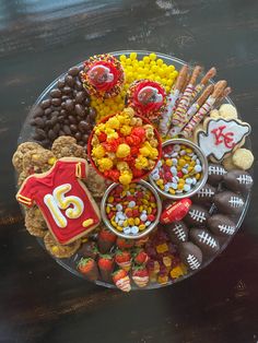
<svg viewBox="0 0 258 343"><path fill-rule="evenodd" d="M181 128L186 123L185 122L186 111L187 111L187 108L188 108L189 103L190 103L191 94L195 90L196 80L197 80L198 75L200 74L200 72L201 72L201 67L196 66L194 71L192 71L192 74L190 76L189 83L187 84L186 90L185 90L183 96L180 97L179 103L177 105L177 108L173 115L173 118L172 118L173 125L177 125Z"/></svg>

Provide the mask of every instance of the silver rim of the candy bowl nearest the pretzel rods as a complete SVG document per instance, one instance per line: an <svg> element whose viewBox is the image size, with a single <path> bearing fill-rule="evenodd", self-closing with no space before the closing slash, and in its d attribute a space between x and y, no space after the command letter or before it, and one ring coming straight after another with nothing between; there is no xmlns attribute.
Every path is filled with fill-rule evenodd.
<svg viewBox="0 0 258 343"><path fill-rule="evenodd" d="M163 197L165 198L169 198L169 199L174 199L174 200L179 200L179 199L184 199L184 198L190 198L192 197L196 192L198 192L198 190L200 188L202 188L206 182L207 182L207 179L208 179L208 161L207 161L207 157L206 155L202 153L202 151L200 150L200 147L188 141L188 140L185 140L185 139L172 139L172 140L168 140L166 142L164 142L162 144L162 147L164 146L167 146L167 145L171 145L171 144L184 144L184 145L187 145L189 147L191 147L195 153L198 155L200 162L201 162L201 166L202 166L202 177L200 180L198 180L198 182L195 185L194 188L191 188L191 190L189 192L184 192L184 193L180 193L180 194L171 194L164 190L162 190L156 184L155 181L153 180L152 176L150 175L149 176L149 179L150 179L150 182L151 185L157 190L157 192L160 194L162 194Z"/></svg>

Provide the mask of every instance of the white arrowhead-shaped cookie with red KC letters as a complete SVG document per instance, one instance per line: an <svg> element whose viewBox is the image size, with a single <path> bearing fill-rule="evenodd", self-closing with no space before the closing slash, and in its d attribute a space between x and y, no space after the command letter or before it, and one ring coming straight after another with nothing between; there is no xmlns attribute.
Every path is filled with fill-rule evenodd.
<svg viewBox="0 0 258 343"><path fill-rule="evenodd" d="M207 156L222 161L228 153L239 146L250 133L250 126L235 119L208 119L204 131L197 132L197 144Z"/></svg>

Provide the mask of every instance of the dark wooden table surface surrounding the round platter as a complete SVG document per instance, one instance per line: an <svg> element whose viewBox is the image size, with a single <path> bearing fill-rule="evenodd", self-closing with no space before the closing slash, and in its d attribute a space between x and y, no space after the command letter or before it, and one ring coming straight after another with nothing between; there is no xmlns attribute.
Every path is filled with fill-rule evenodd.
<svg viewBox="0 0 258 343"><path fill-rule="evenodd" d="M258 342L257 186L213 263L174 286L125 295L70 274L26 233L11 165L45 86L87 56L121 49L216 66L256 152L257 13L256 0L0 1L0 342Z"/></svg>

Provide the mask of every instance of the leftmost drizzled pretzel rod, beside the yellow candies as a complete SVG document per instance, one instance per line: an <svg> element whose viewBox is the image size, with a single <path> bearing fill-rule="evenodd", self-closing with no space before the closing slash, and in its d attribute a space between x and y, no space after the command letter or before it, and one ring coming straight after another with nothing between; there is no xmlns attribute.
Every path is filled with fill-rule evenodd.
<svg viewBox="0 0 258 343"><path fill-rule="evenodd" d="M185 84L188 74L188 66L185 64L181 67L179 74L176 79L175 86L173 87L171 94L167 97L166 108L162 115L162 119L160 121L160 132L162 135L166 135L167 130L171 125L171 118L173 115L174 106L176 104L177 98L180 95L181 88Z"/></svg>

